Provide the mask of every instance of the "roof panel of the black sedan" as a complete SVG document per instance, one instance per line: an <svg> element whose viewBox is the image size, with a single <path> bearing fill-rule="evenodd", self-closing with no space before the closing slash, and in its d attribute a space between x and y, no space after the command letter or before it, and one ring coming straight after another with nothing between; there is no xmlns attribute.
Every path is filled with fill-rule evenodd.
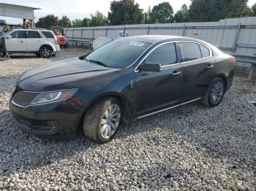
<svg viewBox="0 0 256 191"><path fill-rule="evenodd" d="M185 36L171 36L171 35L142 35L142 36L129 36L122 38L124 40L130 40L130 41L138 41L138 42L146 42L150 44L154 44L157 42L162 42L166 40L170 41L181 41L181 40L190 40L195 42L201 42L198 39L189 38Z"/></svg>

